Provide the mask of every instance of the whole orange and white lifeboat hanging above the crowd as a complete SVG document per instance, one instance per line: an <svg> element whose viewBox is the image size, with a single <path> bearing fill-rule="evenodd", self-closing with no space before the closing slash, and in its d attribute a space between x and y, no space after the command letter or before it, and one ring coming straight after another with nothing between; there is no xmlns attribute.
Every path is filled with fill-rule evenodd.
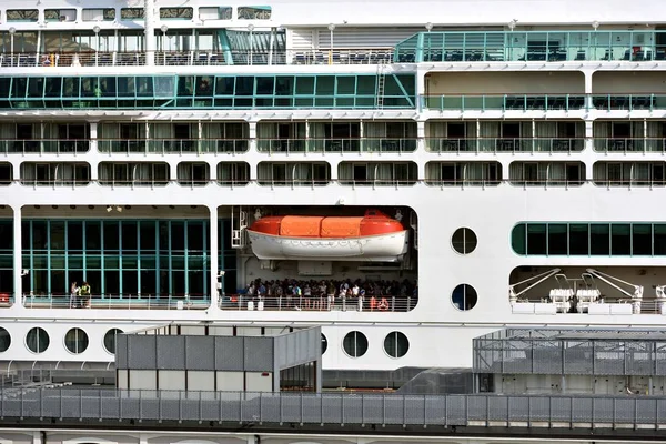
<svg viewBox="0 0 666 444"><path fill-rule="evenodd" d="M402 223L377 210L364 216L273 215L248 229L261 260L397 262L407 252Z"/></svg>

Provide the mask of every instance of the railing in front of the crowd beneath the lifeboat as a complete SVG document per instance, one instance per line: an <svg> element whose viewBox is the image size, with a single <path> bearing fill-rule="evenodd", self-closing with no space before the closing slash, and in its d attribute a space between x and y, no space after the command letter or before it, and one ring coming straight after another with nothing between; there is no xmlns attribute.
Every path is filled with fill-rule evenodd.
<svg viewBox="0 0 666 444"><path fill-rule="evenodd" d="M417 299L412 296L364 296L364 297L320 297L280 296L253 297L242 294L226 294L220 299L220 309L239 311L313 311L313 312L408 312Z"/></svg>

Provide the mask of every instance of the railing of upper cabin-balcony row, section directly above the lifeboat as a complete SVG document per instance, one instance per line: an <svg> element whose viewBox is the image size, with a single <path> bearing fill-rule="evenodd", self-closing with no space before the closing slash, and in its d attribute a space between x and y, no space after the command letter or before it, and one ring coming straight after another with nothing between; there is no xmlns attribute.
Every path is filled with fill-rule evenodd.
<svg viewBox="0 0 666 444"><path fill-rule="evenodd" d="M268 153L405 153L416 150L415 138L258 139L256 148Z"/></svg>

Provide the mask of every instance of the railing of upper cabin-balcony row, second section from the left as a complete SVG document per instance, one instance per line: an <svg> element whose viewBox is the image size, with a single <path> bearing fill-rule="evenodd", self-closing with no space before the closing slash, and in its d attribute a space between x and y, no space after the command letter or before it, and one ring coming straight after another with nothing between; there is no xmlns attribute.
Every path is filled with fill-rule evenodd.
<svg viewBox="0 0 666 444"><path fill-rule="evenodd" d="M99 139L98 150L124 154L243 153L248 139Z"/></svg>

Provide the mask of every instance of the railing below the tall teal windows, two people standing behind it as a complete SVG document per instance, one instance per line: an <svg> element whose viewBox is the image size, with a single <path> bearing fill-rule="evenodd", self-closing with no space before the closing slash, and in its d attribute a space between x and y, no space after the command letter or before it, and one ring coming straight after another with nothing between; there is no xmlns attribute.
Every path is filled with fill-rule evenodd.
<svg viewBox="0 0 666 444"><path fill-rule="evenodd" d="M210 305L208 294L95 294L90 297L70 294L23 295L23 306L27 309L205 310Z"/></svg>

